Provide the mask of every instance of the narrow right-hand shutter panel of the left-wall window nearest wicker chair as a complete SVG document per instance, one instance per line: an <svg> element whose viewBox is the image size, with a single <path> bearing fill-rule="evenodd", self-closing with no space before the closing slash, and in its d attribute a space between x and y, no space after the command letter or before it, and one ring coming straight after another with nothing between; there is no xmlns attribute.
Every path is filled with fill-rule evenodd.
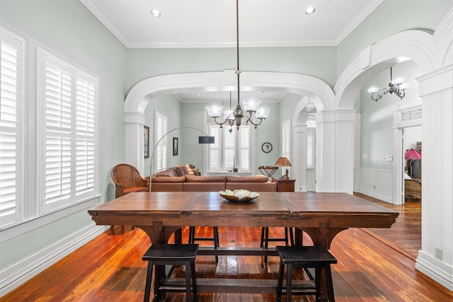
<svg viewBox="0 0 453 302"><path fill-rule="evenodd" d="M94 190L95 83L76 78L76 194Z"/></svg>

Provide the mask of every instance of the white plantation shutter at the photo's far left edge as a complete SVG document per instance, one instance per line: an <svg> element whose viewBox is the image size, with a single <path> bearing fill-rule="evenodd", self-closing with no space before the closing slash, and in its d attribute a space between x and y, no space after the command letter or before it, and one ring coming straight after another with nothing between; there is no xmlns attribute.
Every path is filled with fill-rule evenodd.
<svg viewBox="0 0 453 302"><path fill-rule="evenodd" d="M0 221L20 220L22 45L1 32L0 45Z"/></svg>

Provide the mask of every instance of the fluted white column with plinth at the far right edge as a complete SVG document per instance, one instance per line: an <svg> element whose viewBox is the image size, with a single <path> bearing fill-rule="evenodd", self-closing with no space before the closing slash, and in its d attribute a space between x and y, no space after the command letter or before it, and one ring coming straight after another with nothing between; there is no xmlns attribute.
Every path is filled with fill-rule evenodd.
<svg viewBox="0 0 453 302"><path fill-rule="evenodd" d="M423 110L423 229L415 267L453 290L453 65L418 81Z"/></svg>

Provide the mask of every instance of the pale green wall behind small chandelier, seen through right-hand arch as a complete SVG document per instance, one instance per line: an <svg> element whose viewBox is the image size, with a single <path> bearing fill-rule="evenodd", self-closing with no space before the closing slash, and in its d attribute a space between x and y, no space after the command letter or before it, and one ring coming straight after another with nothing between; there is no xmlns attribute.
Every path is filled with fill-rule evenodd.
<svg viewBox="0 0 453 302"><path fill-rule="evenodd" d="M418 82L415 81L420 75L420 68L413 61L396 64L393 67L393 79L402 77L405 79L405 83L409 84L403 100L387 93L375 102L367 92L371 86L379 89L389 88L389 69L375 76L360 91L360 108L362 110L360 166L362 168L393 171L393 162L384 160L385 156L395 156L393 153L393 113L398 105L421 102L421 98L418 96ZM364 158L364 155L367 158Z"/></svg>

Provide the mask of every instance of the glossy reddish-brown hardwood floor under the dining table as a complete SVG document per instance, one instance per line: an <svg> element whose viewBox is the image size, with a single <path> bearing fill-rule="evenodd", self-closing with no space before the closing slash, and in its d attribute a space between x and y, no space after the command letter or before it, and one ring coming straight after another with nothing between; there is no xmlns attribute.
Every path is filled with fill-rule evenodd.
<svg viewBox="0 0 453 302"><path fill-rule="evenodd" d="M331 246L338 259L332 267L336 301L453 301L452 291L415 271L420 204L393 206L357 195L396 209L400 216L390 229L351 228L336 236ZM137 228L126 226L126 232L119 233L120 226L106 231L0 301L142 301L147 265L142 255L150 240ZM210 236L212 228L197 228L197 236L202 233ZM270 236L282 237L282 233L283 228L270 228ZM185 241L187 237L185 228ZM260 228L220 227L219 239L221 246L258 246ZM220 256L216 265L213 256L199 256L196 266L197 277L276 279L278 257L268 257L264 266L261 257ZM175 274L183 272L176 269ZM304 275L299 272L294 278ZM184 301L184 297L167 294L166 301ZM200 293L198 301L268 302L275 301L275 295ZM292 301L314 301L314 297L296 296Z"/></svg>

